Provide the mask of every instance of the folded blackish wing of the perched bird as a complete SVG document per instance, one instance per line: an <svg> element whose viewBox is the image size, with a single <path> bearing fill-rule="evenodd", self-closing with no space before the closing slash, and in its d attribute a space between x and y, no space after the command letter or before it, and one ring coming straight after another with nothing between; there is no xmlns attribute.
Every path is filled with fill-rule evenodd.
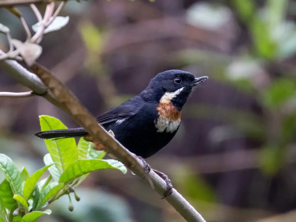
<svg viewBox="0 0 296 222"><path fill-rule="evenodd" d="M101 116L97 118L97 121L100 124L104 125L121 119L126 119L131 116L134 116L139 109L140 107L136 104L122 103L121 105L115 106L109 111L103 113Z"/></svg>

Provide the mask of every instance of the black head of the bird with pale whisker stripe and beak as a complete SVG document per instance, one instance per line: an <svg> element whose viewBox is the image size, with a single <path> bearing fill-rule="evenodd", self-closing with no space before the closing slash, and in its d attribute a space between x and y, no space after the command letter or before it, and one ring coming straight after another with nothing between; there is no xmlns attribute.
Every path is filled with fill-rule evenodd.
<svg viewBox="0 0 296 222"><path fill-rule="evenodd" d="M147 89L153 91L160 103L172 103L181 110L192 88L207 78L207 76L196 78L190 72L173 69L157 74L150 81Z"/></svg>

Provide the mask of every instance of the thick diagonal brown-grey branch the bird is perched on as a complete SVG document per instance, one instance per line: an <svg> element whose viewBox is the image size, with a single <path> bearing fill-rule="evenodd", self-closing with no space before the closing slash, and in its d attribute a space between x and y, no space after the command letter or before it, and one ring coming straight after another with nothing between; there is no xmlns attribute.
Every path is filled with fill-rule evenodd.
<svg viewBox="0 0 296 222"><path fill-rule="evenodd" d="M0 51L0 55L3 54ZM118 141L109 135L92 116L89 111L82 106L75 95L57 80L49 70L33 65L33 71L38 77L22 67L13 60L0 61L0 68L15 78L22 85L29 87L34 93L43 97L53 105L61 108L71 116L81 127L85 128L94 138L105 145L110 153L115 155L137 176L143 178L144 182L154 184L155 191L161 196L166 189L166 183L155 172L151 171L145 175L143 163L135 158L135 155L124 148ZM173 194L166 197L172 205L188 222L205 222L202 216L187 202L175 189Z"/></svg>

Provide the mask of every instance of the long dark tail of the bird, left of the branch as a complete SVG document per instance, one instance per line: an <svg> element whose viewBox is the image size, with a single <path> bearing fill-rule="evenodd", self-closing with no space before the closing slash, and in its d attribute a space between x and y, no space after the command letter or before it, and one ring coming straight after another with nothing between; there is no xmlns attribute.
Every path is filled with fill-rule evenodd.
<svg viewBox="0 0 296 222"><path fill-rule="evenodd" d="M83 128L73 129L54 129L48 131L41 131L34 134L41 139L53 139L53 138L70 138L70 137L84 137L88 133Z"/></svg>

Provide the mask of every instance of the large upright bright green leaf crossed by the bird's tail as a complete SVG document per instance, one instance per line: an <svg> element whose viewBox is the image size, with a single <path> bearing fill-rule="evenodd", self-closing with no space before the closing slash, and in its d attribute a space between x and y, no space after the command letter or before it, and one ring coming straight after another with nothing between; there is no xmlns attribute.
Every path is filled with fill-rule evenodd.
<svg viewBox="0 0 296 222"><path fill-rule="evenodd" d="M67 129L59 120L52 116L39 116L41 130ZM63 172L70 163L77 160L77 146L74 138L65 138L59 140L44 140L52 160L57 164L59 172Z"/></svg>

